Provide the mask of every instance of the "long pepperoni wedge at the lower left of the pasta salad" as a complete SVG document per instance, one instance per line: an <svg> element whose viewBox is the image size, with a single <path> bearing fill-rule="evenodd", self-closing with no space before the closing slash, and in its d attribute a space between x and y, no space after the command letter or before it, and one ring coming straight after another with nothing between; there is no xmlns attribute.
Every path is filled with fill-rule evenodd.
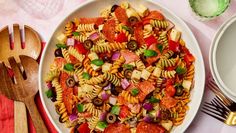
<svg viewBox="0 0 236 133"><path fill-rule="evenodd" d="M66 90L63 90L62 99L68 114L72 114L72 105L73 105L72 98L73 98L73 88L67 88Z"/></svg>

